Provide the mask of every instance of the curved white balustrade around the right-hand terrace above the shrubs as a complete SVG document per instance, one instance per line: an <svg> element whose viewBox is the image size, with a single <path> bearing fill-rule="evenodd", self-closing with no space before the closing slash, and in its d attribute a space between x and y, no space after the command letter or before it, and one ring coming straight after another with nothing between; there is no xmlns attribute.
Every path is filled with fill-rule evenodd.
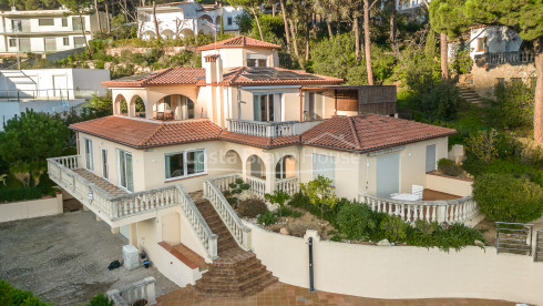
<svg viewBox="0 0 543 306"><path fill-rule="evenodd" d="M479 214L472 196L447 201L401 201L361 194L359 201L372 211L398 216L414 223L418 220L438 223L464 223Z"/></svg>

